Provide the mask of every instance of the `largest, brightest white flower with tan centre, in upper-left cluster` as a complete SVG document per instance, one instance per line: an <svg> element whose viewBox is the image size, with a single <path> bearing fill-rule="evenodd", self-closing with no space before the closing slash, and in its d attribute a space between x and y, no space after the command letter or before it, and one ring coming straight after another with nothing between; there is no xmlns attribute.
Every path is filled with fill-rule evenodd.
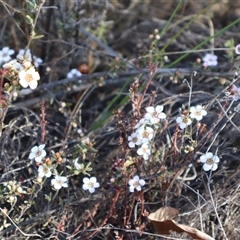
<svg viewBox="0 0 240 240"><path fill-rule="evenodd" d="M19 83L23 88L27 88L28 86L31 89L35 89L38 84L38 80L40 79L39 73L35 70L34 67L30 67L28 70L22 70L18 73Z"/></svg>

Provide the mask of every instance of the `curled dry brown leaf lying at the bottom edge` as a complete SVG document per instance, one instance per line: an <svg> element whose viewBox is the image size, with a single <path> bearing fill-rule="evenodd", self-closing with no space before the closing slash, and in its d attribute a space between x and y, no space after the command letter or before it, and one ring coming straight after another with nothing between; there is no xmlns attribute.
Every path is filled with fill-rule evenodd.
<svg viewBox="0 0 240 240"><path fill-rule="evenodd" d="M194 240L214 240L214 238L197 230L196 228L178 224L172 220L178 215L178 213L179 211L175 208L163 207L153 213L150 213L148 219L151 221L155 230L159 234L170 235L171 232L187 233Z"/></svg>

